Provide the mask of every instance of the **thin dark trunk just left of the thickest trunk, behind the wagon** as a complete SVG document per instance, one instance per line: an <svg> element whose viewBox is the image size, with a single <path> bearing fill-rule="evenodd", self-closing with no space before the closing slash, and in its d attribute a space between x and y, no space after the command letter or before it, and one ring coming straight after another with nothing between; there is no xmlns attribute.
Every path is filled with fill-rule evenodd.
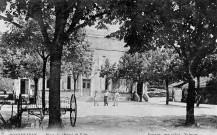
<svg viewBox="0 0 217 135"><path fill-rule="evenodd" d="M47 58L43 59L43 79L42 79L42 110L45 113L45 73L46 73Z"/></svg>

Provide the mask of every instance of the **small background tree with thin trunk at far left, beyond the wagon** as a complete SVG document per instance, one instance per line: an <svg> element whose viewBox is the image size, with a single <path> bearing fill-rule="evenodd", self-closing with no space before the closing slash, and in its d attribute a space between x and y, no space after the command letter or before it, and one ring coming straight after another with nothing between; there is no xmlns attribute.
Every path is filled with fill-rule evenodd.
<svg viewBox="0 0 217 135"><path fill-rule="evenodd" d="M3 58L3 76L12 79L28 77L34 80L35 90L34 98L36 100L38 92L38 79L42 77L42 61L37 55L30 55L22 50L10 50L5 48L1 50Z"/></svg>

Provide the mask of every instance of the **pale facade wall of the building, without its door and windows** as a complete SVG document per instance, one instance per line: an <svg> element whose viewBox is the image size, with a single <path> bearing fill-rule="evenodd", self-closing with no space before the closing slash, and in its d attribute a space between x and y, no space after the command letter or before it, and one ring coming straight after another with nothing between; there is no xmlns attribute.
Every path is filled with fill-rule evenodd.
<svg viewBox="0 0 217 135"><path fill-rule="evenodd" d="M79 76L76 82L76 92L80 93L80 95L87 95L84 90L84 79L90 80L90 92L88 96L93 96L95 91L99 93L104 93L105 91L105 78L99 77L101 66L104 65L105 60L108 59L111 64L118 63L121 56L123 56L124 52L128 50L128 48L124 48L125 43L123 41L118 41L117 39L107 39L105 38L111 30L97 30L93 27L89 27L86 29L87 38L86 40L90 43L90 49L93 50L93 71L91 76L84 77L82 75ZM68 75L62 76L60 80L60 90L61 91L73 91L74 90L74 80L71 78L71 81L67 81ZM68 89L68 83L71 84L71 88ZM34 84L33 84L34 86ZM114 85L112 83L109 86L109 90L112 91ZM45 88L48 91L48 78L45 81ZM125 88L122 88L123 91ZM42 78L39 79L38 82L38 90L42 90Z"/></svg>

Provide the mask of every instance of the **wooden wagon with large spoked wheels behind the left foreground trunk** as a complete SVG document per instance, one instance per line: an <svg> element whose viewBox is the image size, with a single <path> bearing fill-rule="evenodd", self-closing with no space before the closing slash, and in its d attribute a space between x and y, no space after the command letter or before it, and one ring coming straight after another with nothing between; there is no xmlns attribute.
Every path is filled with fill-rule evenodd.
<svg viewBox="0 0 217 135"><path fill-rule="evenodd" d="M7 97L6 94L4 97ZM22 114L23 112L27 112L29 115L34 115L39 118L39 121L42 122L45 115L49 114L49 101L46 101L45 110L42 110L42 100L40 97L37 98L36 103L29 103L26 100L25 94L19 94L19 98L17 99L17 103L12 104L12 114L9 120L4 120L4 118L0 115L0 119L3 121L4 125L15 125L17 127L21 127L22 123ZM4 98L6 101L7 98ZM14 99L16 100L16 99ZM69 112L70 114L70 124L71 126L75 126L76 118L77 118L77 102L75 94L72 94L70 98L61 98L61 113L66 114ZM3 104L2 104L3 105ZM14 106L17 107L16 115L13 115ZM44 113L45 112L45 113ZM6 126L6 127L9 127Z"/></svg>

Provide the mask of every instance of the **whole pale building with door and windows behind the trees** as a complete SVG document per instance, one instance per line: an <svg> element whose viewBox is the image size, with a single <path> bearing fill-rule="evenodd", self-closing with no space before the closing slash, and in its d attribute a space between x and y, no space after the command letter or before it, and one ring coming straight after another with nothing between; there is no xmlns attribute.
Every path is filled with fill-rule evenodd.
<svg viewBox="0 0 217 135"><path fill-rule="evenodd" d="M106 59L110 63L118 63L120 57L128 48L124 48L125 43L117 39L107 39L105 36L111 30L96 30L93 27L88 27L87 41L91 44L90 48L94 51L94 65L92 75L87 77L79 76L76 84L76 93L80 95L93 96L95 91L103 93L105 91L105 78L99 77L101 65L104 64ZM123 81L120 81L123 83ZM22 94L30 94L31 89L34 89L34 83L30 79L15 80L15 89ZM49 90L49 80L46 80L45 88ZM124 83L126 86L126 81ZM109 90L112 86L109 86ZM42 79L39 79L38 90L42 90ZM74 82L71 76L62 76L60 80L61 91L73 91Z"/></svg>

